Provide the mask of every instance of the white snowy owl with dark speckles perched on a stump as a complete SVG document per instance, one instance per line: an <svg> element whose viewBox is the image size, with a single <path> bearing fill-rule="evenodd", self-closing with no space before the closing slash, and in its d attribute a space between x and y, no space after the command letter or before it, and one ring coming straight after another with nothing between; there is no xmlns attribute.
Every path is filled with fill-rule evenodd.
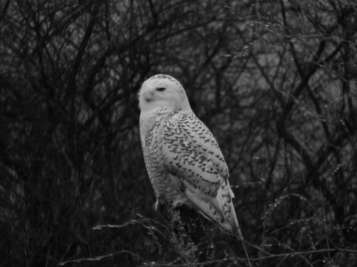
<svg viewBox="0 0 357 267"><path fill-rule="evenodd" d="M159 204L188 205L222 230L238 228L222 152L190 108L182 85L169 75L146 80L139 92L145 165Z"/></svg>

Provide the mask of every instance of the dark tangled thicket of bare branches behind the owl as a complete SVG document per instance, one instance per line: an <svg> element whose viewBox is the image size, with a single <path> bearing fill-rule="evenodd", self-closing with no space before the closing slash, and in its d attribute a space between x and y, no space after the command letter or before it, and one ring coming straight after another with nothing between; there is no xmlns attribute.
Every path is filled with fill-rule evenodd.
<svg viewBox="0 0 357 267"><path fill-rule="evenodd" d="M356 265L354 1L0 8L2 266L177 263L139 138L157 73L220 144L252 265Z"/></svg>

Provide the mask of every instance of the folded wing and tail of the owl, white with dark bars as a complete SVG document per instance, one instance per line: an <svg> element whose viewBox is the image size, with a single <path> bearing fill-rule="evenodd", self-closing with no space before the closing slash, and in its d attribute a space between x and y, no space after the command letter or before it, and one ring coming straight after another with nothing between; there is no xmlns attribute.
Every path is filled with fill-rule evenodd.
<svg viewBox="0 0 357 267"><path fill-rule="evenodd" d="M164 167L176 187L221 229L236 229L228 167L207 126L192 111L176 112L164 122L163 141Z"/></svg>

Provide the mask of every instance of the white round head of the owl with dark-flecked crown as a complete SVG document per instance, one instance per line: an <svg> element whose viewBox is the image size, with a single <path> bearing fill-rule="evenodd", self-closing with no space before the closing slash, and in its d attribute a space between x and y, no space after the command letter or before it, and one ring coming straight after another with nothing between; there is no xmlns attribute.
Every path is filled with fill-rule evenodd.
<svg viewBox="0 0 357 267"><path fill-rule="evenodd" d="M185 90L175 78L157 74L142 84L139 91L139 107L141 111L158 107L183 110L190 108L190 104Z"/></svg>

